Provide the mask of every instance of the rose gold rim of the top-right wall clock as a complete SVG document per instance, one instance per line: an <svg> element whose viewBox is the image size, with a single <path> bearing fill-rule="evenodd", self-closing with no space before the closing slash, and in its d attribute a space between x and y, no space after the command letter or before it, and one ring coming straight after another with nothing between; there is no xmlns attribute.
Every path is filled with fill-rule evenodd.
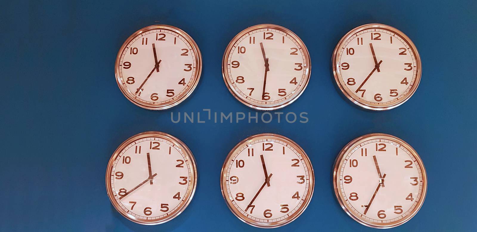
<svg viewBox="0 0 477 232"><path fill-rule="evenodd" d="M354 95L353 93L349 93L349 91L347 91L347 88L344 88L342 86L342 83L340 81L340 76L338 75L338 68L339 68L339 61L338 61L338 53L340 52L340 50L342 49L342 45L345 41L347 41L350 37L352 37L355 33L357 32L361 32L361 31L364 31L364 30L368 30L368 29L384 29L384 30L387 30L387 31L390 31L390 32L394 32L394 34L397 34L399 35L401 38L403 38L407 44L409 44L409 47L412 49L414 55L415 55L415 60L416 60L416 69L417 69L417 72L416 72L416 77L415 77L415 83L414 85L411 87L411 90L409 90L409 92L406 94L406 96L404 96L403 98L399 99L398 101L390 104L390 105L383 105L383 106L377 106L377 105L371 105L369 103L367 103L366 101L363 101L361 98L357 97L356 95ZM334 79L336 81L336 84L338 85L338 87L340 88L340 90L342 91L342 93L350 100L352 101L354 104L356 105L359 105L365 109L370 109L370 110L376 110L376 111L381 111L381 110L389 110L389 109L393 109L399 105L402 105L404 104L404 102L406 102L407 100L409 100L409 98L411 98L412 95L414 95L417 87L419 86L419 82L421 81L421 74L422 74L422 64L421 64L421 57L419 56L419 53L417 52L417 48L416 46L414 45L414 43L411 41L411 39L406 35L404 34L403 32L399 31L398 29L392 27L392 26L389 26L389 25L385 25L385 24L380 24L380 23L370 23L370 24L365 24L365 25L362 25L362 26L359 26L359 27L356 27L354 28L353 30L349 31L348 33L346 33L342 39L340 40L340 42L338 42L338 44L336 45L334 51L333 51L333 55L332 55L332 70L333 70L333 75L334 75Z"/></svg>

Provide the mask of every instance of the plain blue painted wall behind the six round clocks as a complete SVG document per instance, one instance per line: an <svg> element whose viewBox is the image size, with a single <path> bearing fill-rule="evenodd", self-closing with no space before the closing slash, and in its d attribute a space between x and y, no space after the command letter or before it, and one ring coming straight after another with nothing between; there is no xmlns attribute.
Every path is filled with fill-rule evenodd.
<svg viewBox="0 0 477 232"><path fill-rule="evenodd" d="M300 144L316 178L308 209L275 231L372 230L345 214L331 181L340 149L372 132L410 143L429 178L422 209L393 231L477 230L476 1L1 0L0 8L0 231L257 231L229 211L219 176L229 150L263 132ZM189 33L204 61L194 94L162 112L131 104L114 80L121 44L155 21ZM415 95L386 112L354 107L332 79L336 43L370 22L406 33L423 63ZM255 112L228 92L221 61L233 36L260 23L289 28L308 47L308 88L280 112L307 112L309 122L172 123L171 112ZM188 208L156 226L126 220L112 207L104 185L114 149L147 130L184 141L199 175Z"/></svg>

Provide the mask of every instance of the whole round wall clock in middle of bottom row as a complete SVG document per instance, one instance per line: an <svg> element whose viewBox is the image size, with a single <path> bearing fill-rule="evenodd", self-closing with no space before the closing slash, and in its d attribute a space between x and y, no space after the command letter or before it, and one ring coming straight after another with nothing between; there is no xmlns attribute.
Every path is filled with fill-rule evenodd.
<svg viewBox="0 0 477 232"><path fill-rule="evenodd" d="M242 140L230 153L220 176L230 210L256 227L290 223L313 195L314 175L305 151L287 137L259 134Z"/></svg>

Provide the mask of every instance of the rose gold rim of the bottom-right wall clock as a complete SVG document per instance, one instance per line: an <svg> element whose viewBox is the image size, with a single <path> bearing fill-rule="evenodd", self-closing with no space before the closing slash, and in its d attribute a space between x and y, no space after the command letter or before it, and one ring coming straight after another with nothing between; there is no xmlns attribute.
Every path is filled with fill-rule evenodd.
<svg viewBox="0 0 477 232"><path fill-rule="evenodd" d="M361 144L365 141L368 141L368 140L372 140L372 139L388 139L388 140L391 140L391 141L395 141L396 143L400 144L401 146L404 146L409 152L411 152L411 154L415 157L417 163L419 164L421 170L422 170L422 178L423 178L423 189L422 189L422 196L421 198L419 199L420 202L415 206L415 208L411 211L410 214L408 214L406 217L402 218L401 220L399 221L394 221L394 222L388 222L388 223L370 223L368 221L364 221L364 220L361 220L359 217L357 217L356 215L354 215L351 210L347 207L346 203L344 203L345 199L343 198L343 196L341 195L341 191L339 191L339 186L340 186L340 183L339 183L339 179L338 179L338 176L339 176L339 169L342 165L342 162L343 162L343 158L345 157L346 154L348 154L354 147L356 147L356 145L358 144ZM340 203L341 207L343 208L343 210L351 217L353 218L355 221L359 222L360 224L362 225L365 225L365 226L368 226L368 227L372 227L372 228L376 228L376 229L388 229L388 228L393 228L393 227L396 227L396 226L399 226L399 225L402 225L404 224L405 222L411 220L411 218L413 218L415 216L415 214L421 209L423 203L424 203L424 200L425 200L425 195L427 193L427 174L425 172L425 167L424 167L424 164L422 162L422 159L421 157L419 157L419 155L417 154L417 152L415 151L415 149L413 147L411 147L411 145L409 145L408 143L404 142L404 140L398 138L398 137L395 137L395 136L392 136L392 135L389 135L389 134L383 134L383 133L373 133L373 134L367 134L367 135L363 135L363 136L360 136L360 137L357 137L355 139L353 139L351 142L349 142L346 146L344 146L344 148L342 148L342 150L340 151L339 155L336 157L336 160L334 162L334 169L333 169L333 189L334 189L334 193L336 195L336 198L338 200L338 202Z"/></svg>

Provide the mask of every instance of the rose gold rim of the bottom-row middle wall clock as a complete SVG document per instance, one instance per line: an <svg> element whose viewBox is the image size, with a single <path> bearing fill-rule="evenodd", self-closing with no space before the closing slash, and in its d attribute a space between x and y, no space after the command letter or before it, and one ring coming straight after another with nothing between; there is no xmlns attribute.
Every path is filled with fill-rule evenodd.
<svg viewBox="0 0 477 232"><path fill-rule="evenodd" d="M277 140L281 140L282 142L286 142L287 144L289 144L290 146L295 148L301 154L301 156L303 157L303 160L307 164L308 172L310 173L309 174L310 175L310 188L309 188L310 190L309 190L309 193L306 196L303 204L301 205L301 207L298 211L296 211L295 213L293 213L288 218L286 218L282 221L259 222L259 221L251 220L248 217L242 215L235 207L231 206L232 203L229 201L229 198L228 198L227 193L226 193L227 192L227 187L226 187L226 185L227 185L226 184L227 173L226 173L226 169L227 169L229 158L234 154L234 152L237 149L242 147L244 144L248 144L250 142L253 142L253 141L256 141L256 140L259 140L259 139L277 139ZM305 209L308 207L308 204L310 203L311 197L313 196L314 186L315 186L315 175L314 175L314 172L313 172L313 166L311 166L310 158L308 158L308 155L303 150L303 148L301 148L300 145L298 145L297 143L295 143L293 140L291 140L288 137L284 137L284 136L278 135L278 134L271 134L271 133L263 133L263 134L253 135L253 136L247 137L244 140L240 141L228 153L227 158L224 161L224 165L222 166L222 171L221 171L221 174L220 174L220 189L222 191L222 196L224 197L224 200L227 203L228 209L230 209L230 211L232 211L232 213L235 216L237 216L237 218L239 218L241 221L243 221L243 222L245 222L249 225L259 227L259 228L276 228L276 227L284 226L284 225L290 223L291 221L297 219L301 215L301 213L303 213L303 211L305 211Z"/></svg>

